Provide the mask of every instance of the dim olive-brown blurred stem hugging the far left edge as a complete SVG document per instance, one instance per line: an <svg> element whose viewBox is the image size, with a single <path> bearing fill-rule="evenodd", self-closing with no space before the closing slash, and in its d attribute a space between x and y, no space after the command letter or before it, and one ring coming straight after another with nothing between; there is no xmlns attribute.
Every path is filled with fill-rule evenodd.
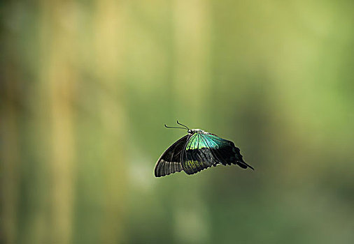
<svg viewBox="0 0 354 244"><path fill-rule="evenodd" d="M6 68L9 67L1 74L3 91L0 92L0 243L16 243L20 152L13 93L17 80L12 77L15 70Z"/></svg>

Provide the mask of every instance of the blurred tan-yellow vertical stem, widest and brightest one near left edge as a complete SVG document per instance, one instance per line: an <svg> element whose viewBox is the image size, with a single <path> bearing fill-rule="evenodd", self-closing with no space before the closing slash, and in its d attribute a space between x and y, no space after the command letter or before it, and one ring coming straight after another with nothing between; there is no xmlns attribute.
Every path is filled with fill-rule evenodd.
<svg viewBox="0 0 354 244"><path fill-rule="evenodd" d="M70 243L73 217L73 184L75 142L73 128L73 86L76 70L75 7L71 1L42 2L43 43L45 43L44 70L41 82L48 98L48 123L46 132L50 144L48 154L50 218L48 242ZM42 50L43 51L43 50Z"/></svg>

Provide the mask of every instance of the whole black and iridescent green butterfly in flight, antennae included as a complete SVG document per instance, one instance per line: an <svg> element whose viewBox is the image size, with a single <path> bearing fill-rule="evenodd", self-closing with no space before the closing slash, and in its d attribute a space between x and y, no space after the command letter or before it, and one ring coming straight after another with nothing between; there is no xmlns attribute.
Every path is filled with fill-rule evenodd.
<svg viewBox="0 0 354 244"><path fill-rule="evenodd" d="M243 161L240 149L227 139L222 139L200 129L190 129L177 121L188 134L167 148L157 160L155 176L167 176L180 171L196 174L203 169L216 165L239 165L242 169L252 166ZM253 169L254 170L254 169Z"/></svg>

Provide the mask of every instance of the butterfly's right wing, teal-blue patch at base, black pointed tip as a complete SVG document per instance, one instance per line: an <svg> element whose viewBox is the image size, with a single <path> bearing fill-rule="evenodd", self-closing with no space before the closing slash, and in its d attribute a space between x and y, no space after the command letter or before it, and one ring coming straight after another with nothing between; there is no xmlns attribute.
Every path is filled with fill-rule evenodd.
<svg viewBox="0 0 354 244"><path fill-rule="evenodd" d="M234 142L222 139L211 133L201 136L204 137L207 146L211 149L211 153L214 155L214 158L217 159L217 164L234 164L239 165L239 167L243 169L247 169L247 167L253 169L253 167L243 161L240 149L235 146Z"/></svg>

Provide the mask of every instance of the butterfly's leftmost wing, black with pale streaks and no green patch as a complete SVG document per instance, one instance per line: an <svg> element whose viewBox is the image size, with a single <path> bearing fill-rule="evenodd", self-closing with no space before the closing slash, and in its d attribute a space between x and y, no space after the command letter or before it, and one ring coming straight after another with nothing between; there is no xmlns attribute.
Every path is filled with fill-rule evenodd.
<svg viewBox="0 0 354 244"><path fill-rule="evenodd" d="M185 135L162 153L155 165L155 176L167 176L182 171L181 158L190 135Z"/></svg>

